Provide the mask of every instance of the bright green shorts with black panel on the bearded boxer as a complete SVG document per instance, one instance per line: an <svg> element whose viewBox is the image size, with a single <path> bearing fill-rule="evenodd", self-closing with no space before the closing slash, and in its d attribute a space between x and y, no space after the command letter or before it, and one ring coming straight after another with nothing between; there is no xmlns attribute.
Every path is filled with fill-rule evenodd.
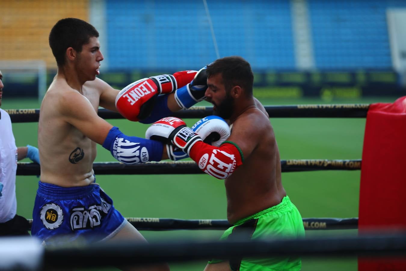
<svg viewBox="0 0 406 271"><path fill-rule="evenodd" d="M298 209L286 196L278 205L237 221L228 228L220 240L233 240L251 236L257 238L300 238L304 237L302 216ZM238 237L237 237L238 236ZM213 259L209 264L224 260ZM259 270L300 270L302 261L300 257L291 258L234 258L230 259L230 268L233 271L259 271Z"/></svg>

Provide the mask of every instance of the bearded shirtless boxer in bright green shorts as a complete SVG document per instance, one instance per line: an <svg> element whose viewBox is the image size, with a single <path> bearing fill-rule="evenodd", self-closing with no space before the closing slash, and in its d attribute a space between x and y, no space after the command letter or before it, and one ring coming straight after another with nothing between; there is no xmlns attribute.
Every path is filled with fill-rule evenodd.
<svg viewBox="0 0 406 271"><path fill-rule="evenodd" d="M206 74L207 101L214 105L215 115L232 125L227 141L220 146L202 141L202 133L197 132L201 123L207 123L206 134L227 133L225 121L223 125L211 125L210 119L205 120L208 118L192 129L181 119L172 119L171 123L161 119L155 122L160 126L148 128L146 137L166 139L183 149L205 173L225 179L227 219L233 226L221 239L304 236L302 217L282 186L279 150L269 116L253 97L251 65L241 57L230 56L207 65ZM166 129L162 125L165 123ZM300 268L298 257L238 258L212 260L205 271Z"/></svg>

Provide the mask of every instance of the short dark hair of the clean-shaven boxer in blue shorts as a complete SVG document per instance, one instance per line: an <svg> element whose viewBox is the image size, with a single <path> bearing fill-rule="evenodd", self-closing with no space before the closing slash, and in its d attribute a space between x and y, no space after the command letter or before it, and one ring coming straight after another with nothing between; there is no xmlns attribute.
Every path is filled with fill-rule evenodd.
<svg viewBox="0 0 406 271"><path fill-rule="evenodd" d="M76 52L82 52L82 46L88 43L91 37L99 37L99 32L91 24L76 18L59 20L52 27L49 36L52 54L58 67L65 64L67 48L72 47Z"/></svg>

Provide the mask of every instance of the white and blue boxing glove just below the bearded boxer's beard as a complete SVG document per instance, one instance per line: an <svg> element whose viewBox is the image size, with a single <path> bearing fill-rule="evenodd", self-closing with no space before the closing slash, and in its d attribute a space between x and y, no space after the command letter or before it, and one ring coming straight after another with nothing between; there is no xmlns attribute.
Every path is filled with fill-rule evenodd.
<svg viewBox="0 0 406 271"><path fill-rule="evenodd" d="M222 142L227 140L231 134L227 122L218 116L204 117L203 119L197 121L191 129L203 139L203 142L216 147L220 146ZM153 134L155 134L153 128L148 128L147 132L145 133L145 137L154 137ZM185 153L184 149L175 147L171 144L166 145L166 152L169 159L173 161L189 157L188 154Z"/></svg>

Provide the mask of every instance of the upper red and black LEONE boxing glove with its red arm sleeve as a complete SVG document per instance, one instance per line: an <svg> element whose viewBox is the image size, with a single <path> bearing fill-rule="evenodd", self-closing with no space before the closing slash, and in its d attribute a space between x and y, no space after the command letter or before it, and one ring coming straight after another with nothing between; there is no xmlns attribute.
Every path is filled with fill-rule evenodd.
<svg viewBox="0 0 406 271"><path fill-rule="evenodd" d="M196 73L197 71L189 70L140 79L119 92L115 101L116 108L123 117L131 121L144 119L151 114L156 96L184 87L193 80Z"/></svg>

